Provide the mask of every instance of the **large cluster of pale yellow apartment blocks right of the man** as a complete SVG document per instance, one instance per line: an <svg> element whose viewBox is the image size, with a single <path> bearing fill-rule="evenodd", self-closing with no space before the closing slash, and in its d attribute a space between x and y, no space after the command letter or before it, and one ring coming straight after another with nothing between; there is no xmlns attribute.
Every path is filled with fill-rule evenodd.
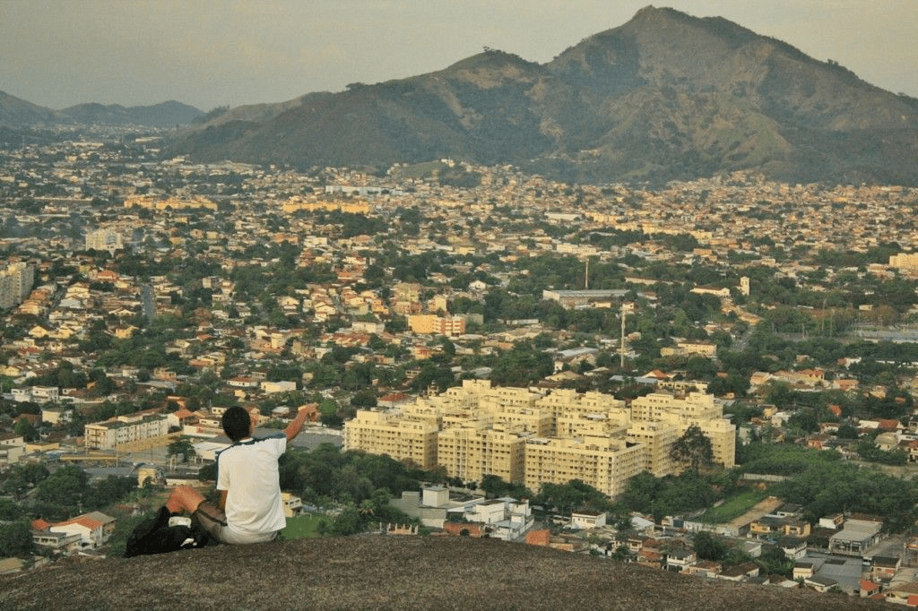
<svg viewBox="0 0 918 611"><path fill-rule="evenodd" d="M711 439L714 461L732 467L736 431L710 394L657 392L628 406L595 392L465 380L414 404L357 412L344 425L344 450L439 465L465 482L492 474L536 491L578 479L613 496L640 472L682 469L670 450L692 425Z"/></svg>

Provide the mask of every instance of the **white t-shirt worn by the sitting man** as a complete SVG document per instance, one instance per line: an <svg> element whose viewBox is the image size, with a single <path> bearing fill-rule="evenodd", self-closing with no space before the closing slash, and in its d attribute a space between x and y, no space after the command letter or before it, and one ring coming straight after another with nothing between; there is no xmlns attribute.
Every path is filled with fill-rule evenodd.
<svg viewBox="0 0 918 611"><path fill-rule="evenodd" d="M217 489L227 493L227 528L242 537L273 533L286 526L277 459L286 436L242 439L217 456Z"/></svg>

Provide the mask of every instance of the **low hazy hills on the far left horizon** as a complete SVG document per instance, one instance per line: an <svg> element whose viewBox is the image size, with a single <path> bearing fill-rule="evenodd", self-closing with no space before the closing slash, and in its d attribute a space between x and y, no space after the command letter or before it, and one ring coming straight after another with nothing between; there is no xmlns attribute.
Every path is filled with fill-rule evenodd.
<svg viewBox="0 0 918 611"><path fill-rule="evenodd" d="M57 124L137 125L174 128L204 117L195 108L170 100L154 106L103 106L80 104L63 110L37 106L14 95L0 92L0 126L6 128L47 127Z"/></svg>

